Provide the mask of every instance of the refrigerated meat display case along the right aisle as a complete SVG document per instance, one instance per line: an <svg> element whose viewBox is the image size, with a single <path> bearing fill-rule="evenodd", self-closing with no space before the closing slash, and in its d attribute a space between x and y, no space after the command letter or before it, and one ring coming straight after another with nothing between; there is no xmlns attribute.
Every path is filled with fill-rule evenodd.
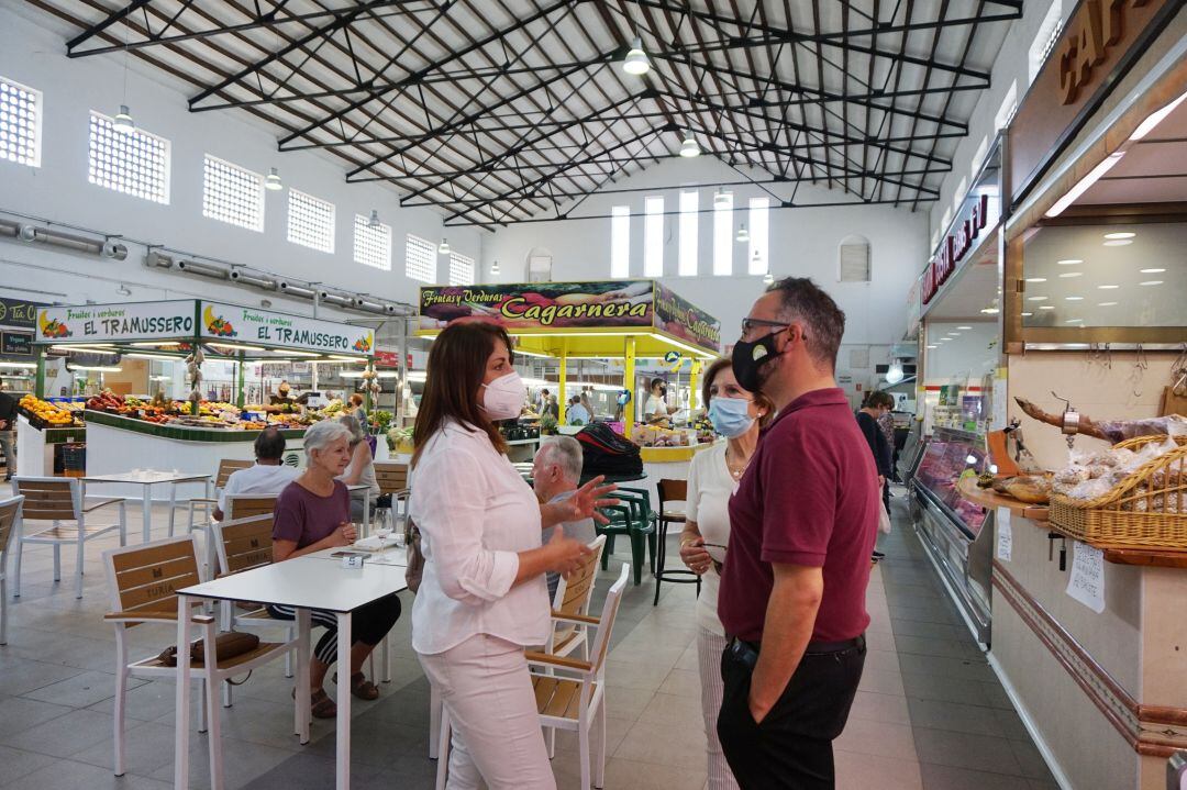
<svg viewBox="0 0 1187 790"><path fill-rule="evenodd" d="M977 433L937 428L927 438L910 480L910 518L929 559L964 613L973 636L990 644L990 578L994 561L991 515L960 496L966 470L985 464L985 439Z"/></svg>

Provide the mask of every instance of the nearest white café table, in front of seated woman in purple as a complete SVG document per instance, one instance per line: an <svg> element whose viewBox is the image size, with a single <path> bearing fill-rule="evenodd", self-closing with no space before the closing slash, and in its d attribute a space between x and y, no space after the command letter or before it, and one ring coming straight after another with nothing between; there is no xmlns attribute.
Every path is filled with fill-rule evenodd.
<svg viewBox="0 0 1187 790"><path fill-rule="evenodd" d="M267 565L261 568L245 571L214 581L193 585L177 591L178 606L178 644L189 642L189 623L185 614L192 599L242 600L253 604L273 604L292 606L298 610L298 638L303 645L309 645L310 618L309 610L319 609L334 612L338 618L338 677L347 678L339 683L338 699L338 745L337 745L337 781L338 790L350 786L350 612L373 600L392 593L407 590L404 580L404 567L377 562L364 562L362 568L343 568L339 560L334 562L318 556L342 549L326 549L316 555L305 555ZM307 650L307 649L306 649ZM297 657L298 677L297 694L303 715L309 711L309 656L305 650ZM178 651L177 671L177 730L173 746L173 786L186 788L190 781L190 683L183 682L190 667L188 650ZM343 669L348 668L348 669ZM211 715L218 715L217 709ZM306 719L307 721L307 719ZM301 743L309 743L309 728L303 727ZM211 777L211 786L220 786L221 777Z"/></svg>

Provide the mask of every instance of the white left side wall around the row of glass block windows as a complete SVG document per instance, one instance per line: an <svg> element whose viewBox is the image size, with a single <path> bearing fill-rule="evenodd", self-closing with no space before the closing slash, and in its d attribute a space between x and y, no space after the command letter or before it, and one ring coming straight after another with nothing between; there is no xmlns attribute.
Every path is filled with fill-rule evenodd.
<svg viewBox="0 0 1187 790"><path fill-rule="evenodd" d="M184 250L243 263L287 276L320 281L348 291L383 299L415 302L418 283L404 275L405 234L437 241L443 235L442 216L430 209L400 209L394 190L373 184L347 184L348 165L332 154L277 152L277 130L246 113L222 110L190 113L186 96L192 85L166 83L155 70L125 74L125 57L65 57L65 38L50 30L45 14L26 18L11 6L0 8L0 76L36 88L44 94L42 166L26 167L0 161L0 216L19 212L56 223L108 234L122 234ZM125 79L127 93L125 97ZM160 205L91 185L87 180L89 110L108 116L128 104L138 127L172 144L170 204ZM278 167L285 186L292 186L336 205L335 253L325 254L286 241L287 189L267 192L264 232L243 230L202 216L202 164L210 153L259 173ZM391 272L361 266L353 260L354 216L377 209L392 225ZM453 228L446 234L451 247L478 259L481 231ZM61 255L40 246L0 243L0 281L31 283L30 288L66 293L64 300L116 301L115 288L127 282L131 300L157 299L199 292L236 301L253 301L254 289L211 286L210 281L150 272L144 268L142 248L132 244L128 260L115 263L94 257ZM13 266L13 262L23 266ZM439 259L438 275L447 278L447 261ZM30 268L33 267L33 268ZM78 278L69 276L76 273ZM97 278L97 279L96 279ZM139 286L139 287L138 287ZM274 310L311 312L309 301L284 304L268 295Z"/></svg>

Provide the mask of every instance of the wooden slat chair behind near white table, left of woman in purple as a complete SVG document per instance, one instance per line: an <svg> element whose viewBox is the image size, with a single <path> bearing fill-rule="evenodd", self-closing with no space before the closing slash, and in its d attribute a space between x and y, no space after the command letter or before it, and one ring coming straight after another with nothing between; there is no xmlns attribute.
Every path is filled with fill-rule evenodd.
<svg viewBox="0 0 1187 790"><path fill-rule="evenodd" d="M249 516L235 521L211 523L211 540L218 560L218 576L242 573L272 565L272 514ZM297 638L296 620L278 620L268 610L255 604L241 607L235 601L220 601L220 623L223 631L275 633L283 631L286 642ZM285 654L285 677L293 676L293 654ZM231 706L231 683L223 683L223 707Z"/></svg>

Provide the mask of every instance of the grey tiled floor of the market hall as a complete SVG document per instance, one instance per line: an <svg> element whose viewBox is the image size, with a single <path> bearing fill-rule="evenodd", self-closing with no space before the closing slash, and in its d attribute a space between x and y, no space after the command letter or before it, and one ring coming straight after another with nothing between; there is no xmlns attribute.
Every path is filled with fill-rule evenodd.
<svg viewBox="0 0 1187 790"><path fill-rule="evenodd" d="M836 744L837 786L1054 788L904 524L902 499L895 508L896 531L883 540L888 556L870 584L865 673L849 726ZM163 516L158 511L159 523ZM108 607L101 553L114 544L114 537L88 544L81 601L69 578L52 584L47 548L26 550L24 594L11 601L9 643L0 646L0 786L171 784L173 690L165 681L133 682L128 775L115 778L110 772L115 652L112 627L101 620ZM63 566L71 568L72 560ZM690 586L666 586L653 607L652 590L650 582L630 588L618 616L608 665L607 788L696 790L705 785L705 765L693 592ZM145 655L173 638L171 627L142 626L132 633ZM408 648L407 617L396 625L393 644L394 681L382 687L379 701L354 706L354 786L432 788L429 686ZM332 786L334 725L316 721L312 743L298 745L291 733L290 692L291 681L279 665L265 668L236 689L235 706L221 712L228 786ZM207 786L205 737L195 734L191 750L191 786ZM558 738L553 766L561 788L577 788L572 738Z"/></svg>

